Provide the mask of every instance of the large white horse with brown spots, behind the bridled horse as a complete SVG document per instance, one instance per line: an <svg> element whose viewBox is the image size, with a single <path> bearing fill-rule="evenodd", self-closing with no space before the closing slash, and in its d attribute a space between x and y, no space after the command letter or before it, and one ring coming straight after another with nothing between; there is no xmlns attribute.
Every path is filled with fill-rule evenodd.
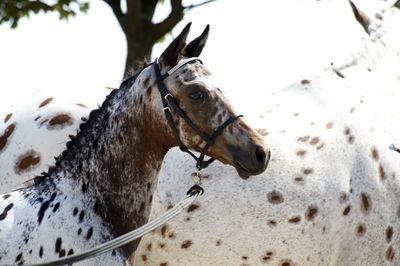
<svg viewBox="0 0 400 266"><path fill-rule="evenodd" d="M254 97L262 109L246 117L272 145L268 171L241 180L212 164L205 196L145 236L136 265L400 264L400 158L387 149L400 143L400 14L378 14L380 28L360 17L373 38L351 63ZM192 170L167 154L152 217L181 198Z"/></svg>

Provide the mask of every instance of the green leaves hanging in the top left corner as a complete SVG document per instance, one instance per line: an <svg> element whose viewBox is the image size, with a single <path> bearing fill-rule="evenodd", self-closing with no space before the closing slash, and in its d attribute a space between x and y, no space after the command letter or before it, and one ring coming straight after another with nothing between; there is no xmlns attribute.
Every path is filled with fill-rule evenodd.
<svg viewBox="0 0 400 266"><path fill-rule="evenodd" d="M60 19L67 19L77 12L86 13L88 9L89 2L80 0L0 0L0 24L9 22L11 28L16 28L19 20L31 13L58 12Z"/></svg>

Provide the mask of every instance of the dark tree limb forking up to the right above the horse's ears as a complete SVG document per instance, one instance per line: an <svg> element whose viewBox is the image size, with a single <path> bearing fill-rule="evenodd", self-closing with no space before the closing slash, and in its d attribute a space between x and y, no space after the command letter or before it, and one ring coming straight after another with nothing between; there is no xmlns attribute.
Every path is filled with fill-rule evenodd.
<svg viewBox="0 0 400 266"><path fill-rule="evenodd" d="M176 24L183 18L184 7L182 6L182 0L171 0L171 13L168 17L158 24L154 24L154 41L158 41L165 34L172 31Z"/></svg>

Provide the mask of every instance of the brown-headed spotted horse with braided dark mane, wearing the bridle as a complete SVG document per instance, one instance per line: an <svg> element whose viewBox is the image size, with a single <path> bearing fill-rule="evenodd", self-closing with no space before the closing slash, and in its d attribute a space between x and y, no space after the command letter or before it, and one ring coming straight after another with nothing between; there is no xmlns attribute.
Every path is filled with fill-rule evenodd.
<svg viewBox="0 0 400 266"><path fill-rule="evenodd" d="M185 46L189 28L190 24L161 55L162 74L181 59L201 53L208 27ZM122 235L147 221L161 163L176 140L164 117L153 66L139 73L133 85L124 82L101 108L90 113L79 134L67 143L55 167L35 178L35 185L0 196L0 264L64 257ZM206 134L211 134L224 119L233 115L232 107L198 60L182 65L164 82ZM37 108L48 108L51 101L45 99ZM5 120L9 124L2 134L3 147L6 147L3 153L7 153L7 145L14 141L20 127L12 117ZM68 123L70 116L64 113L36 120L39 121L36 126L46 126L49 130L71 124ZM200 151L203 140L176 116L175 123L184 144ZM243 157L232 154L232 147L243 153ZM256 156L260 152L265 154L263 161ZM29 154L18 159L16 172L29 169L35 164L32 161L39 160L38 153ZM208 154L227 164L244 165L252 174L264 171L269 160L266 143L243 118L229 124ZM29 166L23 167L25 164ZM90 262L129 264L137 244L138 241Z"/></svg>

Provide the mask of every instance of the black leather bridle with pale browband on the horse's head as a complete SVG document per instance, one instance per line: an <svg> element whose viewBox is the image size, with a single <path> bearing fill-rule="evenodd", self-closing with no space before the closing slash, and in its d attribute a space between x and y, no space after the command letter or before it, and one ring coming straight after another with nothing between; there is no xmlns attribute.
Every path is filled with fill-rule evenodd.
<svg viewBox="0 0 400 266"><path fill-rule="evenodd" d="M154 66L154 71L156 73L156 78L157 78L157 83L158 83L158 90L160 91L162 102L163 102L163 106L164 106L164 108L163 108L164 114L165 114L165 117L167 119L168 125L170 126L170 128L172 130L172 134L175 136L176 142L178 143L179 148L181 149L181 151L189 153L196 160L197 169L201 170L203 168L206 168L208 165L210 165L210 163L212 163L215 160L214 158L211 157L209 160L204 161L204 156L206 155L207 150L214 144L216 138L222 133L222 131L230 123L235 121L237 118L242 117L243 115L233 115L233 116L229 117L224 123L222 123L222 125L220 125L212 133L211 136L208 136L207 134L205 134L203 131L200 130L200 128L198 128L192 122L192 120L185 114L185 112L182 110L182 108L179 107L179 105L175 101L174 97L169 92L167 86L165 86L164 79L167 78L169 75L171 75L176 70L178 70L180 67L184 66L185 64L191 63L191 62L195 62L195 61L198 61L198 62L202 63L201 60L198 59L198 58L189 58L189 59L186 59L183 63L180 63L177 66L175 66L174 68L172 68L170 71L168 71L164 75L161 75L160 66L158 65L158 58L154 61L153 66ZM175 126L174 119L172 118L172 113L171 113L170 107L172 107L174 109L174 111L180 117L182 117L183 120L185 120L185 122L193 129L193 131L196 132L197 135L199 135L206 142L206 145L204 145L204 147L201 149L199 157L194 155L185 146L185 144L183 144L183 142L181 141L181 139L179 137L178 130L177 130L176 126Z"/></svg>

